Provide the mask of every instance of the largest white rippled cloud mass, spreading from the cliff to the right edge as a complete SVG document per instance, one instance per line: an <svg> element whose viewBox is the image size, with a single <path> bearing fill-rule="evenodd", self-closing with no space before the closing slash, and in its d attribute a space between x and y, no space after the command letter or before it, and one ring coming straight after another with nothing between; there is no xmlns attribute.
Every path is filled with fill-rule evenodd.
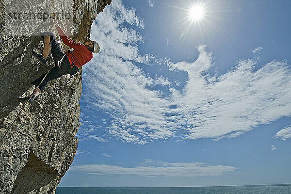
<svg viewBox="0 0 291 194"><path fill-rule="evenodd" d="M102 128L111 137L136 144L173 137L177 130L185 133L183 140L220 140L291 115L291 70L286 61L274 60L255 71L258 61L243 59L226 74L211 77L213 57L206 46L197 47L199 55L193 63L156 60L151 54L140 55L138 44L143 38L136 28L144 28L143 20L120 0L98 14L91 38L102 49L83 66L86 92L82 97L88 109L102 110L110 119L97 129L84 117L86 128L78 132L81 138L106 141L106 136L100 136ZM186 72L185 88L177 90L176 81L171 83L162 75L151 78L135 65L152 61ZM170 92L151 89L157 84Z"/></svg>

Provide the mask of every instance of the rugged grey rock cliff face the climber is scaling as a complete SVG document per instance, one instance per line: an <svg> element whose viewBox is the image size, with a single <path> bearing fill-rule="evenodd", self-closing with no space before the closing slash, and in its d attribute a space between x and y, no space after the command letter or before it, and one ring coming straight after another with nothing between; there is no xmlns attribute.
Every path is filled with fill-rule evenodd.
<svg viewBox="0 0 291 194"><path fill-rule="evenodd" d="M6 0L6 6L16 1ZM72 39L87 40L92 20L110 3L111 0L73 0ZM4 14L4 0L0 0L0 139L24 106L18 97L31 93L34 86L30 82L54 65L51 56L47 65L32 57L32 49L42 52L41 37L6 35ZM57 35L53 26L48 31ZM63 51L67 49L62 47ZM1 142L0 194L55 193L78 145L75 134L80 126L81 68L66 85L68 78L50 81L38 99L24 107Z"/></svg>

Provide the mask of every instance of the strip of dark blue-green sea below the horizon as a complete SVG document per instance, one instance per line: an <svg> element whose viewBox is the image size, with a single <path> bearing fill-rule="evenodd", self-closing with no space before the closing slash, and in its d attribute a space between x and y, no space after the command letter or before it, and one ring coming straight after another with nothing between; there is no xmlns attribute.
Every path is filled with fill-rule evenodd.
<svg viewBox="0 0 291 194"><path fill-rule="evenodd" d="M56 194L291 194L291 184L220 187L57 187Z"/></svg>

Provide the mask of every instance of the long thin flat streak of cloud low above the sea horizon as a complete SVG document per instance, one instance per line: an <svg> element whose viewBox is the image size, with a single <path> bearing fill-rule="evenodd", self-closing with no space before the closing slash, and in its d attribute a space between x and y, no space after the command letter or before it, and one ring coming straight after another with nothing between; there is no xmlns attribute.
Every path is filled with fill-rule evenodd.
<svg viewBox="0 0 291 194"><path fill-rule="evenodd" d="M155 162L146 160L136 167L122 167L107 164L86 164L71 166L69 171L94 175L138 175L143 177L198 177L221 176L236 170L232 166L207 165L203 162Z"/></svg>

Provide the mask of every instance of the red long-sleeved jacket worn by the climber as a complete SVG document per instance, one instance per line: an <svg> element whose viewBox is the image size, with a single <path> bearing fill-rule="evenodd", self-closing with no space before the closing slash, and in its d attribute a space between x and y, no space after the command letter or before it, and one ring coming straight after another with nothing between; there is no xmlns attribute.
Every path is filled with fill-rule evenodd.
<svg viewBox="0 0 291 194"><path fill-rule="evenodd" d="M68 36L60 27L57 27L57 31L59 32L59 35L61 36L65 45L74 49L73 53L65 52L69 60L74 65L76 65L77 67L81 67L82 65L85 65L93 58L93 54L84 45L69 39Z"/></svg>

